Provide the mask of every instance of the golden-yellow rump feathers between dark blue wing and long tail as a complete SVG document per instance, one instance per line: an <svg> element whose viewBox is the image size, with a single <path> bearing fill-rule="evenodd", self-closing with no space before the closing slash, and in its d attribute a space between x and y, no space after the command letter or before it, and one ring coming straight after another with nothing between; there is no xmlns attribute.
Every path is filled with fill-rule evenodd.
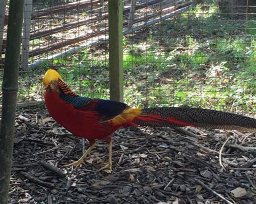
<svg viewBox="0 0 256 204"><path fill-rule="evenodd" d="M125 123L126 121L132 121L140 113L142 113L142 108L128 108L123 113L114 117L111 122L113 123L113 125L120 125Z"/></svg>

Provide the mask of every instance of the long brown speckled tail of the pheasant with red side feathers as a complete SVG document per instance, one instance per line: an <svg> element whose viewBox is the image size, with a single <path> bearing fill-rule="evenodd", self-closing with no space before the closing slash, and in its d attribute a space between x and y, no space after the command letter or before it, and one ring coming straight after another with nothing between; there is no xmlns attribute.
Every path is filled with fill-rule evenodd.
<svg viewBox="0 0 256 204"><path fill-rule="evenodd" d="M144 108L133 121L151 127L203 127L256 132L256 119L222 111L190 107Z"/></svg>

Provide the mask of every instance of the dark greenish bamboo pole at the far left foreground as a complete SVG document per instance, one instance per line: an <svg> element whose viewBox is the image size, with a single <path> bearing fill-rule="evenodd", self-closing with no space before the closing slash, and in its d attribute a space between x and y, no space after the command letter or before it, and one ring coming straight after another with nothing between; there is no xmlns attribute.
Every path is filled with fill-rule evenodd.
<svg viewBox="0 0 256 204"><path fill-rule="evenodd" d="M15 111L18 91L19 57L24 0L10 0L6 56L3 76L3 106L0 134L0 203L8 203L14 147Z"/></svg>

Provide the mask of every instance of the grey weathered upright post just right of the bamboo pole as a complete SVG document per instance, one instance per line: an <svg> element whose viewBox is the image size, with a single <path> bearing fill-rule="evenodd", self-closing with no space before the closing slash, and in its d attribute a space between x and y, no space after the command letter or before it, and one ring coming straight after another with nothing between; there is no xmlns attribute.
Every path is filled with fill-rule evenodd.
<svg viewBox="0 0 256 204"><path fill-rule="evenodd" d="M28 69L28 62L29 62L31 12L32 12L32 0L25 0L23 36L22 36L22 57L21 57L21 69L23 71Z"/></svg>

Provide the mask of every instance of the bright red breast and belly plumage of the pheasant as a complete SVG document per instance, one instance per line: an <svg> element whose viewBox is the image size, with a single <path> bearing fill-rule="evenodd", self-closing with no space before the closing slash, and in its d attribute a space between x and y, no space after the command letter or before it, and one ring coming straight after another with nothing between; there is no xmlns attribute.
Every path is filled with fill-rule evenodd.
<svg viewBox="0 0 256 204"><path fill-rule="evenodd" d="M77 110L72 104L61 99L58 93L45 92L44 98L52 118L77 137L103 139L115 131L100 123L97 112Z"/></svg>

